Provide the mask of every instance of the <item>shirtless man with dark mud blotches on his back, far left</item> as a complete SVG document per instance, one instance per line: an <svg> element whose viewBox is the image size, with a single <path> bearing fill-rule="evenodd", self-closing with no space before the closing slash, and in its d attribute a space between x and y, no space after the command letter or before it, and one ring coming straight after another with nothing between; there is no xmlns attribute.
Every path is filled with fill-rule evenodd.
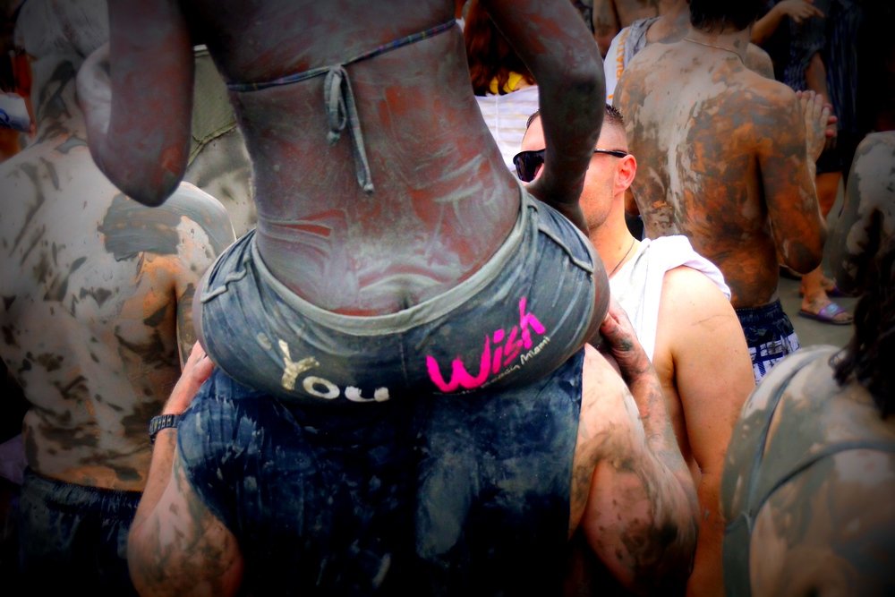
<svg viewBox="0 0 895 597"><path fill-rule="evenodd" d="M148 209L94 165L75 73L108 39L105 2L29 0L17 38L37 135L0 165L0 354L30 403L22 573L36 593L128 594L124 546L149 473L149 419L194 342L199 278L233 231L192 185Z"/></svg>

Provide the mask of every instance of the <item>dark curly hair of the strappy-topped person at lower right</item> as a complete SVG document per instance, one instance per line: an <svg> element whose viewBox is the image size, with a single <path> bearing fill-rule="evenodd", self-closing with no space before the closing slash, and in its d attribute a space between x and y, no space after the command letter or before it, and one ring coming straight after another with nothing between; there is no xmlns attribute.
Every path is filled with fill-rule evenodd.
<svg viewBox="0 0 895 597"><path fill-rule="evenodd" d="M840 385L855 380L882 417L895 412L895 236L882 244L855 306L855 334L833 360Z"/></svg>

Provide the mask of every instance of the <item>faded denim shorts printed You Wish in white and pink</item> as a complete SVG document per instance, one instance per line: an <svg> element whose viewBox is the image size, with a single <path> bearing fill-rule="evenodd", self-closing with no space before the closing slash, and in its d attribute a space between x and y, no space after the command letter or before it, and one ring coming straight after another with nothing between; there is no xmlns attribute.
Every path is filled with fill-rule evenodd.
<svg viewBox="0 0 895 597"><path fill-rule="evenodd" d="M205 349L227 375L305 402L384 402L405 393L466 394L527 383L584 345L594 318L592 245L520 187L519 217L491 260L445 294L372 317L325 311L275 279L254 233L209 269ZM599 312L598 312L599 311Z"/></svg>

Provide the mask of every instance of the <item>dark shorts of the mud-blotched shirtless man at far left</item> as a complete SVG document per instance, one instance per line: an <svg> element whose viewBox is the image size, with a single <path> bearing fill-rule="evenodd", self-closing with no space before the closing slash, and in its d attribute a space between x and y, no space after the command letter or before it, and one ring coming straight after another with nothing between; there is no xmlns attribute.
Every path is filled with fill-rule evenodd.
<svg viewBox="0 0 895 597"><path fill-rule="evenodd" d="M108 490L25 470L19 501L19 565L34 594L86 589L136 595L127 569L127 533L140 491Z"/></svg>

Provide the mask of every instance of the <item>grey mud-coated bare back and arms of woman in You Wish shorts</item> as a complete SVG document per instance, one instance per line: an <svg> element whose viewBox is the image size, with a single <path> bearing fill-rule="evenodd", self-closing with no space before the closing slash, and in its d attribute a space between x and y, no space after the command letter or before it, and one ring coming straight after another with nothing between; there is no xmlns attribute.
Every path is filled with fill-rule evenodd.
<svg viewBox="0 0 895 597"><path fill-rule="evenodd" d="M184 2L185 18L181 7L158 4L112 5L113 84L116 72L128 83L114 88L113 105L123 109L113 109L108 134L90 130L98 163L148 204L164 200L182 175L192 43L209 47L226 81L268 81L454 17L445 0ZM486 4L536 73L545 122L564 148L548 156L550 173L532 190L583 227L577 195L603 93L597 48L568 3ZM358 18L346 21L346 13ZM345 70L371 194L357 183L349 132L328 143L323 76L231 95L254 169L258 248L274 276L311 303L346 314L394 312L479 269L516 222L518 188L469 90L459 28ZM165 121L141 122L162 107ZM143 149L122 150L133 149L125 140L135 136L146 140Z"/></svg>

